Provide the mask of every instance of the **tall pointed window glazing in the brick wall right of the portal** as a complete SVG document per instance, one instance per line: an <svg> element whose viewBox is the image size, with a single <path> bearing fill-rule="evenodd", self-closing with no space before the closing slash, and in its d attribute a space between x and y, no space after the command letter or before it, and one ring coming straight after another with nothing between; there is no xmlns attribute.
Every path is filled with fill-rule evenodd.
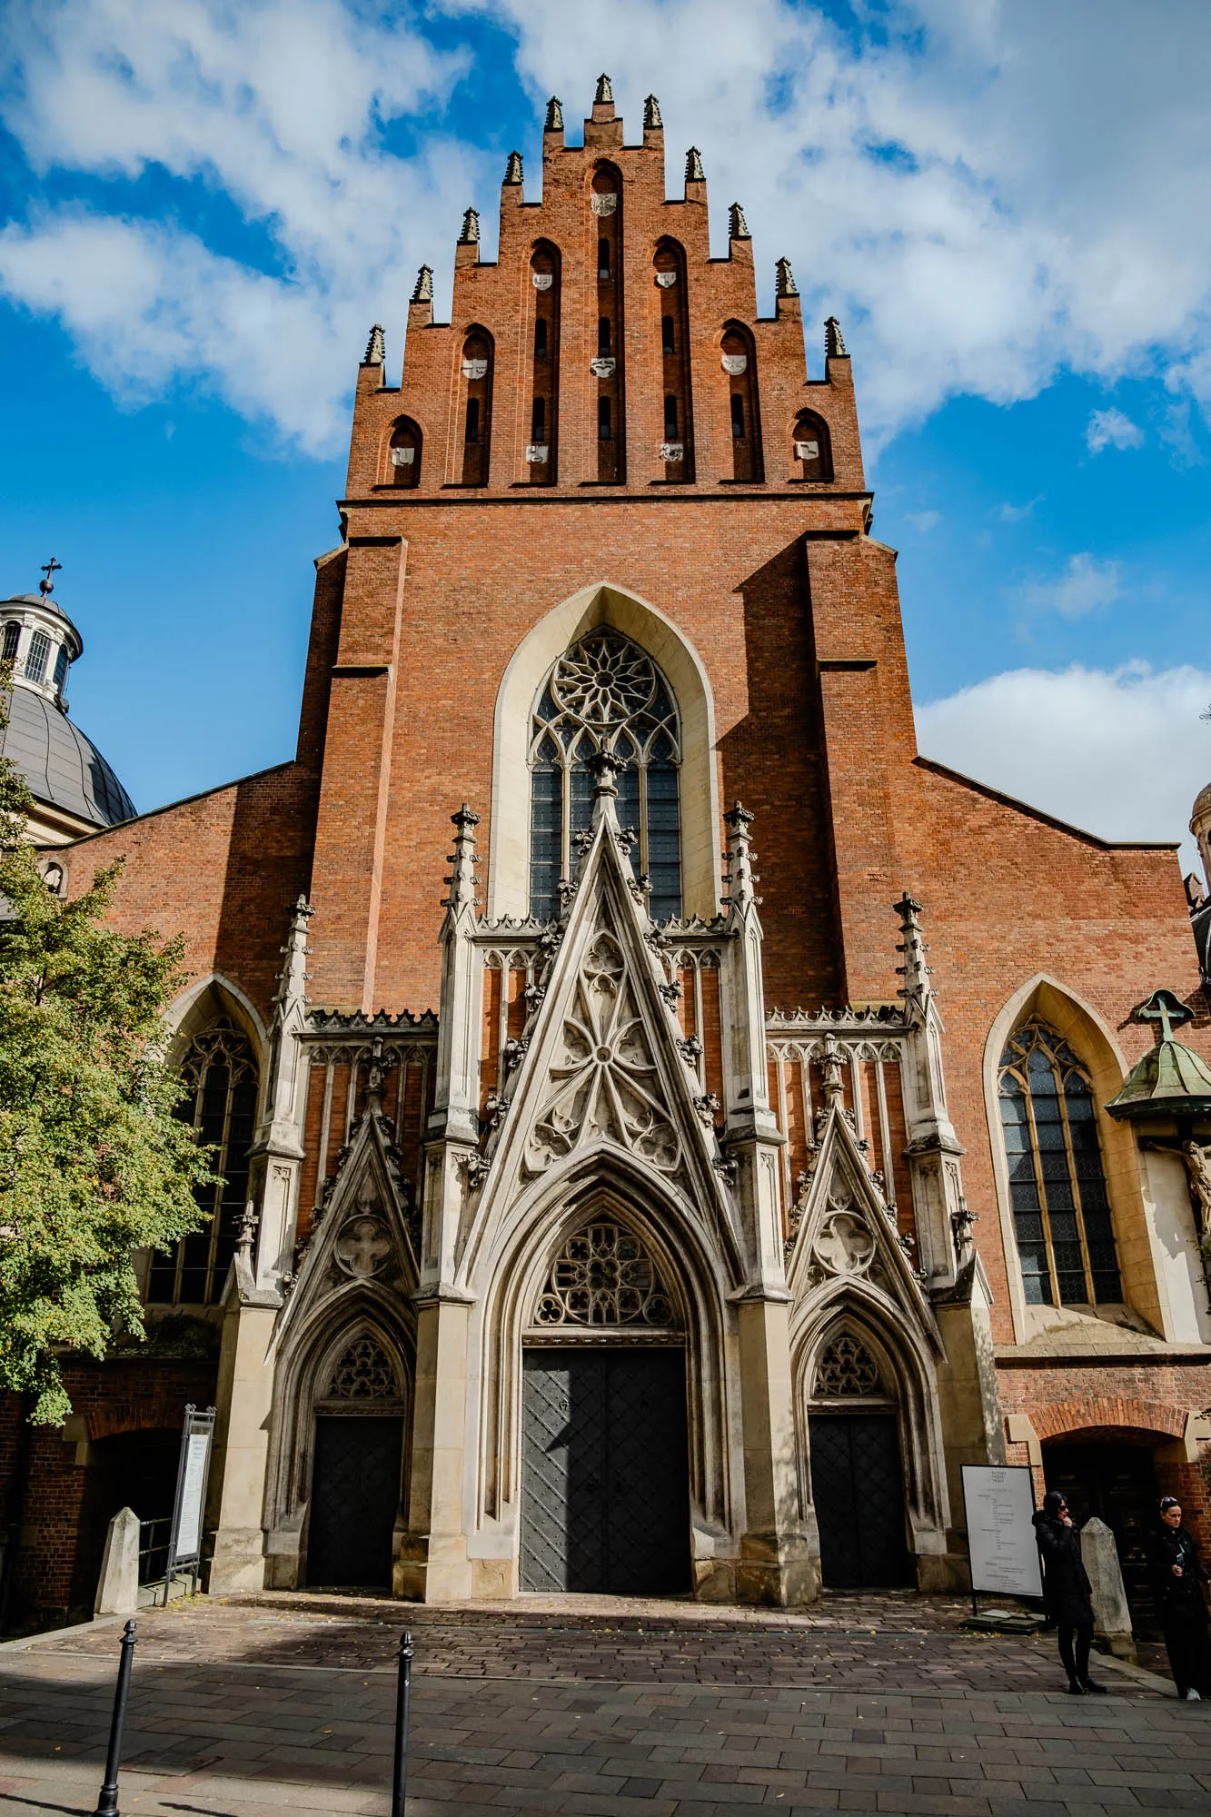
<svg viewBox="0 0 1211 1817"><path fill-rule="evenodd" d="M1000 1056L1000 1121L1027 1305L1122 1301L1093 1083L1040 1018Z"/></svg>

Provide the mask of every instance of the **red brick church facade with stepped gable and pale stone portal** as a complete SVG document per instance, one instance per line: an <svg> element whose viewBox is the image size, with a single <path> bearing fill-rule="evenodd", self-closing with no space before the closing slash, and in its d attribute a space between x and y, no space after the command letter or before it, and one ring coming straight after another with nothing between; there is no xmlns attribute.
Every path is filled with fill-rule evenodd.
<svg viewBox="0 0 1211 1817"><path fill-rule="evenodd" d="M431 1599L962 1586L962 1463L1206 1521L1211 1101L1133 1070L1158 990L1211 1057L1175 852L918 754L871 507L836 323L806 372L655 102L553 104L398 385L371 336L295 760L56 850L185 934L235 1190L147 1352L5 1428L16 1604L89 1601L185 1399L218 1588L360 1581L362 1528Z"/></svg>

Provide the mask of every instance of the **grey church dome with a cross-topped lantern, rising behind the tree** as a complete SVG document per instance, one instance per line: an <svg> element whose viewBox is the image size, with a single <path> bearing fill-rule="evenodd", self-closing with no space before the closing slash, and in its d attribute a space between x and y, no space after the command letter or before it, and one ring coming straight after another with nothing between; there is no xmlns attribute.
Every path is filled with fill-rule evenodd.
<svg viewBox="0 0 1211 1817"><path fill-rule="evenodd" d="M135 803L91 738L67 718L67 670L84 640L51 598L56 565L51 563L40 592L0 600L0 660L13 665L0 754L22 772L40 807L51 810L49 825L62 839L87 827L116 827L135 816ZM38 838L33 821L31 832Z"/></svg>

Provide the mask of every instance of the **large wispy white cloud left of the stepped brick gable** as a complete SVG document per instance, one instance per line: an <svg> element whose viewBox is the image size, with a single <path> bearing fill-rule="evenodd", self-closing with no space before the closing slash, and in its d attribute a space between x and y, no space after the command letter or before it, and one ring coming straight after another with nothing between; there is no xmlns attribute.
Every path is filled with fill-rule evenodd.
<svg viewBox="0 0 1211 1817"><path fill-rule="evenodd" d="M333 452L369 323L400 322L484 174L442 134L384 154L380 122L427 107L465 58L340 0L18 0L4 18L22 73L4 116L35 169L198 180L262 227L267 258L95 202L9 223L0 289L58 316L124 400L202 382Z"/></svg>

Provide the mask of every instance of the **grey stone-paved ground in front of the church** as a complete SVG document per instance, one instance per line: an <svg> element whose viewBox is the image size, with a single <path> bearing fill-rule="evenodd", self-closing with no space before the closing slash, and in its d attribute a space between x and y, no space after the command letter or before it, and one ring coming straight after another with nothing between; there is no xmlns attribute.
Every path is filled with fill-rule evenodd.
<svg viewBox="0 0 1211 1817"><path fill-rule="evenodd" d="M198 1599L140 1617L122 1812L385 1813L404 1623L407 1817L1211 1812L1211 1704L1111 1663L1096 1666L1107 1695L1062 1695L1053 1641L964 1633L964 1608ZM118 1635L0 1648L13 1817L95 1808Z"/></svg>

